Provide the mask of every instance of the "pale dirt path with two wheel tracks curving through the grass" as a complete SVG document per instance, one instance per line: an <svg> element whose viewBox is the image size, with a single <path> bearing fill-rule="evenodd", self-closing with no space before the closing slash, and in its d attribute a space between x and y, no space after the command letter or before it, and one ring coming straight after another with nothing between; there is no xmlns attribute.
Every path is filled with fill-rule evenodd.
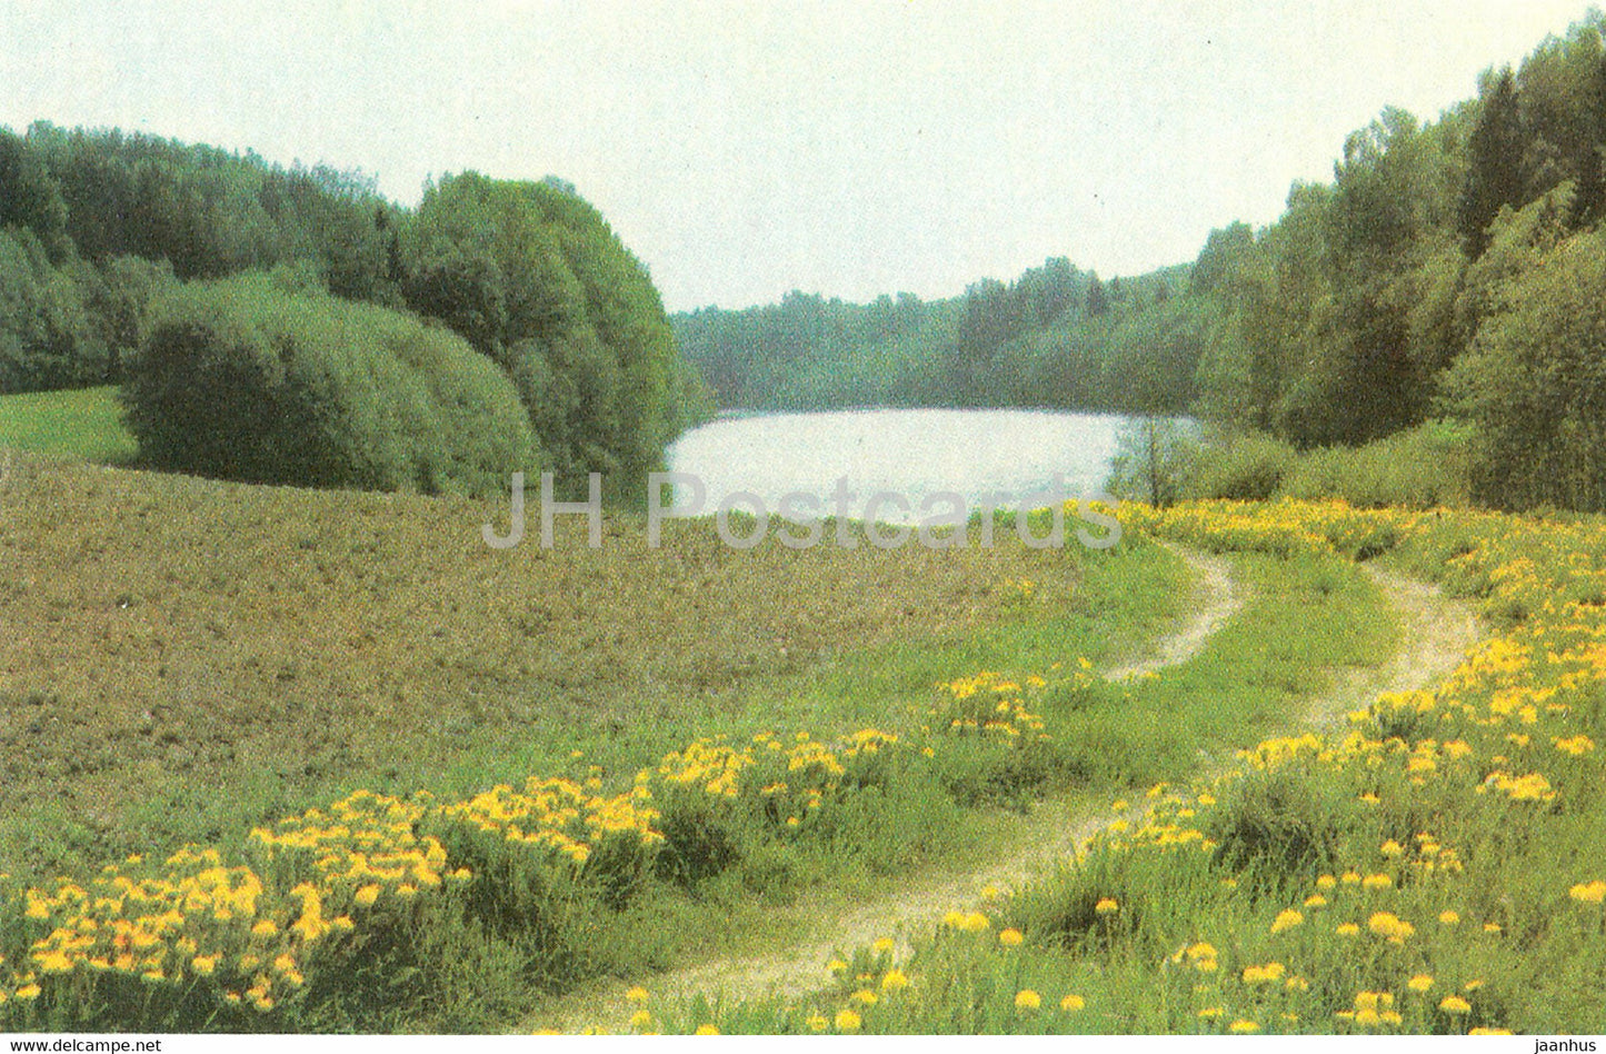
<svg viewBox="0 0 1606 1054"><path fill-rule="evenodd" d="M1198 654L1246 599L1245 588L1227 561L1172 548L1198 572L1198 614L1161 638L1150 657L1107 672L1108 680L1185 662ZM1320 729L1339 723L1349 710L1365 705L1381 691L1426 688L1447 675L1481 636L1471 609L1445 599L1437 588L1373 567L1363 570L1399 615L1399 648L1381 667L1351 670L1333 689L1310 699L1293 728ZM1216 768L1225 766L1227 762L1222 762ZM670 998L694 993L726 999L797 996L817 990L827 980L824 964L837 950L893 937L901 951L907 951L909 938L922 932L922 927L928 930L935 925L944 911L975 905L981 890L989 885L1009 889L1052 868L1113 818L1108 811L1090 810L1084 802L1039 802L1012 837L1013 848L991 866L959 876L940 876L912 889L899 889L882 900L856 905L838 914L829 927L822 927L814 938L789 948L671 970L649 985L654 995ZM623 993L623 985L599 985L549 1007L543 1025L562 1032L575 1032L589 1023L617 1025L630 1015Z"/></svg>

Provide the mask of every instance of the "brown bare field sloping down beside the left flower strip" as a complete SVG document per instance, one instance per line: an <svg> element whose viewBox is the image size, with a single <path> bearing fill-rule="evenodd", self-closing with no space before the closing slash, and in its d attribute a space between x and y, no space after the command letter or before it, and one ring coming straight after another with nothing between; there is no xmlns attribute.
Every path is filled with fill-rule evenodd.
<svg viewBox="0 0 1606 1054"><path fill-rule="evenodd" d="M610 516L591 549L559 517L543 551L535 514L493 551L480 525L506 501L18 455L0 490L0 869L226 842L357 786L469 789L580 747L639 763L683 729L785 721L853 656L968 648L1082 603L1079 558L1009 532L989 549L740 551L681 521L649 549L639 517Z"/></svg>

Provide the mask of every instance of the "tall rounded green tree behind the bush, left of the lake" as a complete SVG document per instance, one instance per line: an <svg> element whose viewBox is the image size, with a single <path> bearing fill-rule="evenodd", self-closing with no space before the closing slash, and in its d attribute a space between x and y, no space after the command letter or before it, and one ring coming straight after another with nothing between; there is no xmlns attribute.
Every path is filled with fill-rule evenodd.
<svg viewBox="0 0 1606 1054"><path fill-rule="evenodd" d="M675 336L646 268L570 186L446 177L402 257L408 304L512 378L567 490L660 464L679 419Z"/></svg>

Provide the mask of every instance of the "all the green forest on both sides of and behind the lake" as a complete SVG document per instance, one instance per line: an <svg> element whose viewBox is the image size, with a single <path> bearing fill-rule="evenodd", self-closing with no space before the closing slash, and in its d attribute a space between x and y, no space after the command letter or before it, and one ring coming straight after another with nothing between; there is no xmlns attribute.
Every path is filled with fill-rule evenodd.
<svg viewBox="0 0 1606 1054"><path fill-rule="evenodd" d="M0 392L117 384L154 466L271 476L260 466L279 440L265 434L218 443L249 447L234 461L181 448L198 419L175 378L202 378L323 421L316 456L296 455L323 466L307 482L459 488L488 479L491 455L442 439L463 434L442 424L448 406L398 406L445 398L451 386L427 374L471 350L496 370L454 382L483 405L511 394L530 434L507 450L570 490L591 471L639 479L715 403L1044 406L1190 413L1248 432L1272 488L1282 469L1254 451L1286 461L1391 443L1373 460L1392 461L1421 448L1399 437L1429 429L1433 450L1452 437L1479 505L1598 511L1603 31L1590 13L1433 121L1386 109L1341 145L1330 182L1296 183L1264 228L1221 227L1190 264L1100 278L1058 257L941 300L792 292L666 317L646 268L557 178L448 175L403 209L329 167L114 130L0 130ZM246 275L265 278L236 281ZM220 281L234 292L175 296ZM316 297L443 326L458 344L358 370L352 349L405 358L398 347L430 342L342 344L340 326L398 329L374 312L307 307ZM275 329L275 299L324 323ZM191 341L198 329L210 337ZM292 368L284 353L246 355L251 376L201 370L244 362L214 355L230 342L312 350ZM413 395L358 381L376 371L414 376Z"/></svg>

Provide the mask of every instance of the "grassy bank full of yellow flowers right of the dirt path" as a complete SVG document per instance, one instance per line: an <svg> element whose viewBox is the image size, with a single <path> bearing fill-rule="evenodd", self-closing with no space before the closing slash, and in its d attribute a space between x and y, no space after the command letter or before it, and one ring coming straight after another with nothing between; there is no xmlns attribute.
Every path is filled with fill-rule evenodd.
<svg viewBox="0 0 1606 1054"><path fill-rule="evenodd" d="M1468 1033L1606 1023L1606 525L1335 505L1137 516L1221 551L1381 556L1498 636L1349 731L1156 787L1057 874L956 905L907 961L843 954L792 1003L654 1004L638 1028ZM623 1023L622 1023L623 1025Z"/></svg>

